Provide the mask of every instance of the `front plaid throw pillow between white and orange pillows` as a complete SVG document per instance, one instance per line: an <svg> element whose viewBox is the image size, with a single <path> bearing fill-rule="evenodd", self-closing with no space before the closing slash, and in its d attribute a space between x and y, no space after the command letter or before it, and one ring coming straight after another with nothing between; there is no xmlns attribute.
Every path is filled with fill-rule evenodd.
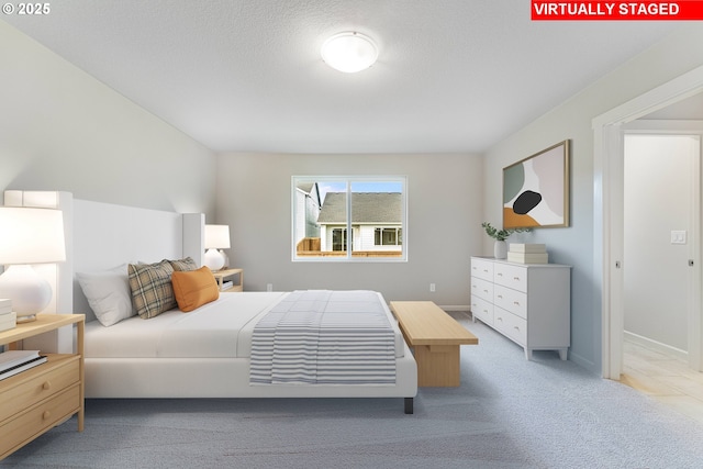
<svg viewBox="0 0 703 469"><path fill-rule="evenodd" d="M130 290L136 313L143 320L157 316L178 305L171 286L171 264L164 259L156 264L130 264Z"/></svg>

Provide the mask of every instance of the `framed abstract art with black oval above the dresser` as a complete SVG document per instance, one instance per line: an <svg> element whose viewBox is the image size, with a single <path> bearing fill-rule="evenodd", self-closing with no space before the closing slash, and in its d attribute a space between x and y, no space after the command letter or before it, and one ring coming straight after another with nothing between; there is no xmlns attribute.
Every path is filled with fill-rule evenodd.
<svg viewBox="0 0 703 469"><path fill-rule="evenodd" d="M503 168L503 228L569 226L569 141Z"/></svg>

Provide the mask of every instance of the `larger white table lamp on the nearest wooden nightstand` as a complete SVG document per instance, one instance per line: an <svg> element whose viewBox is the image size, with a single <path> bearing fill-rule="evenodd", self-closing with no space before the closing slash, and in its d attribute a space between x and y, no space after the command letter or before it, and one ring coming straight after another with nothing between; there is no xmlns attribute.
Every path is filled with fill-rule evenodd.
<svg viewBox="0 0 703 469"><path fill-rule="evenodd" d="M64 260L60 210L0 206L0 298L12 301L18 323L35 321L52 300L52 287L31 265Z"/></svg>

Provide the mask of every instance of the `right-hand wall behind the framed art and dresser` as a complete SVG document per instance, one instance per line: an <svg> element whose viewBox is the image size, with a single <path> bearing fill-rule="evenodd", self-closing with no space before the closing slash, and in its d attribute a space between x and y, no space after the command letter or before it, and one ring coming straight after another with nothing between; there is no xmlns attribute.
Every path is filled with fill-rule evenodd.
<svg viewBox="0 0 703 469"><path fill-rule="evenodd" d="M593 118L703 64L703 24L683 24L589 88L500 142L486 154L484 211L501 223L502 168L571 139L571 226L526 236L546 243L550 261L573 266L570 359L601 371L601 286L593 270ZM490 252L487 241L484 252Z"/></svg>

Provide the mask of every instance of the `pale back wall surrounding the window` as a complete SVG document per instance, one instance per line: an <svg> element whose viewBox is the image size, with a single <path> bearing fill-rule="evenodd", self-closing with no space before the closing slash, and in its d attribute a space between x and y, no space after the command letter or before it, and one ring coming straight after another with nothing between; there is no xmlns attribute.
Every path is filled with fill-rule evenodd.
<svg viewBox="0 0 703 469"><path fill-rule="evenodd" d="M408 263L291 261L291 177L406 176ZM386 300L469 304L469 258L481 248L482 158L477 155L224 154L217 223L245 290L375 289ZM436 292L429 292L436 283Z"/></svg>

